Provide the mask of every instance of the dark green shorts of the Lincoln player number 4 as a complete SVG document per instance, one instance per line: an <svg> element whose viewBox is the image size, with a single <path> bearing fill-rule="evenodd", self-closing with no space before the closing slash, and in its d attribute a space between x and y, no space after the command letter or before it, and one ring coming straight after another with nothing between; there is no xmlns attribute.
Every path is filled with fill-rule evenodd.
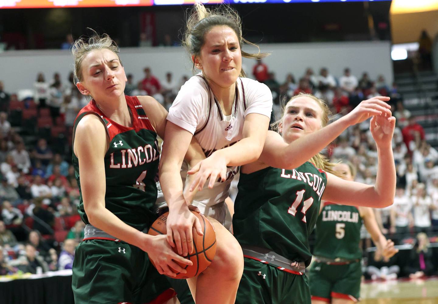
<svg viewBox="0 0 438 304"><path fill-rule="evenodd" d="M164 303L175 295L146 252L123 241L85 240L74 255L76 304Z"/></svg>

